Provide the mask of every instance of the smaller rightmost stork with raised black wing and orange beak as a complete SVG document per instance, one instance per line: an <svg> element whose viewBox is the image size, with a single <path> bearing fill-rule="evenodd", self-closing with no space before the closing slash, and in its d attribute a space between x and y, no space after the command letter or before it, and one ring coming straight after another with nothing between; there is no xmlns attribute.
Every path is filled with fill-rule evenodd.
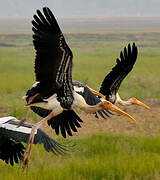
<svg viewBox="0 0 160 180"><path fill-rule="evenodd" d="M106 75L104 78L99 92L95 91L94 89L88 88L95 94L99 96L99 93L103 94L101 96L101 100L106 99L113 104L128 106L128 105L140 105L145 107L146 109L150 110L150 107L146 104L142 103L135 97L124 101L120 98L118 94L119 87L124 80L124 78L128 75L128 73L133 69L133 66L136 62L138 55L137 46L133 43L132 47L128 44L128 48L125 47L123 52L120 52L120 59L116 59L116 65L112 68L112 71Z"/></svg>

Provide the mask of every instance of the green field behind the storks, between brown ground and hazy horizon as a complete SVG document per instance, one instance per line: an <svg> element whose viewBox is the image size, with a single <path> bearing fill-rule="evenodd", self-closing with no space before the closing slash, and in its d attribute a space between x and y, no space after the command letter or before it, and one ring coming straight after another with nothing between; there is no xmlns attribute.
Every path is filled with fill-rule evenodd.
<svg viewBox="0 0 160 180"><path fill-rule="evenodd" d="M21 118L25 104L21 96L34 83L32 38L27 34L2 34L0 39L0 106L9 107L9 113ZM120 94L123 98L160 98L160 33L67 34L66 39L74 54L74 79L97 90L123 47L135 41L138 60ZM10 47L6 47L8 44Z"/></svg>

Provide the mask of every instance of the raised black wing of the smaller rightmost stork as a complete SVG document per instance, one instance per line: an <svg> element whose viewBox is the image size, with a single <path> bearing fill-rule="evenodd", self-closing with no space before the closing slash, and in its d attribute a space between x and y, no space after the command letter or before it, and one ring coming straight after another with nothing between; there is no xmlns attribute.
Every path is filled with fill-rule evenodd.
<svg viewBox="0 0 160 180"><path fill-rule="evenodd" d="M132 48L131 45L128 44L128 49L125 47L124 51L120 52L120 59L117 58L116 66L105 77L99 90L100 93L106 96L107 100L109 100L110 96L117 93L121 82L132 70L137 59L137 54L138 50L135 43L133 43Z"/></svg>

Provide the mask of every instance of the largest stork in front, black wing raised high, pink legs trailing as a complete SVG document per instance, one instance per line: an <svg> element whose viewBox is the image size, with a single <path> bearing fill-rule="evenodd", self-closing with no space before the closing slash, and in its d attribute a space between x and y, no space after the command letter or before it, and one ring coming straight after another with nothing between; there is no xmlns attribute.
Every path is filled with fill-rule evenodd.
<svg viewBox="0 0 160 180"><path fill-rule="evenodd" d="M33 44L36 50L35 75L36 81L39 83L36 93L28 99L27 108L41 107L51 110L51 113L33 126L22 160L24 166L28 165L36 130L44 122L64 111L79 108L84 112L94 113L98 110L109 109L127 116L135 122L133 117L109 101L105 100L96 105L89 105L84 97L74 90L72 52L51 10L44 7L43 13L44 15L37 10L37 15L33 16L34 20L32 21ZM20 125L24 120L26 119L24 118Z"/></svg>

